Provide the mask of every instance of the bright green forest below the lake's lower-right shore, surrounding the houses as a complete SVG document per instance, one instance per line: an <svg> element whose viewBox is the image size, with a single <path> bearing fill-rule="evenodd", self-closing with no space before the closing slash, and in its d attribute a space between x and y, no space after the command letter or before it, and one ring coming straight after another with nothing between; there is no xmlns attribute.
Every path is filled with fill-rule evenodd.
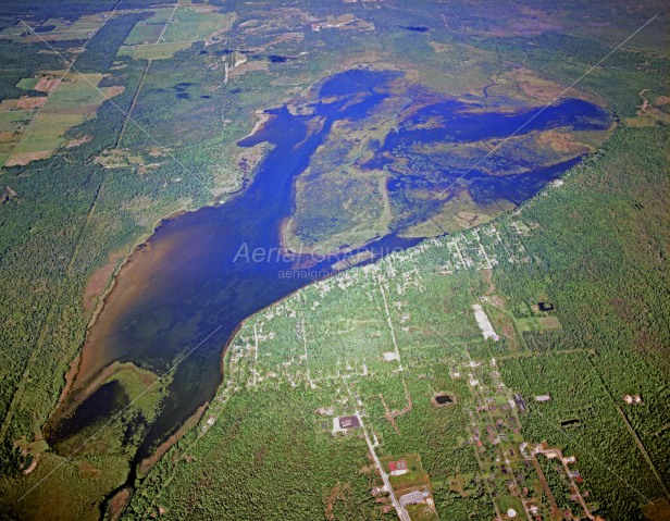
<svg viewBox="0 0 670 521"><path fill-rule="evenodd" d="M464 382L450 377L463 349L479 351L483 360L500 358L498 365L509 392L521 393L529 400L529 411L520 413L524 438L531 443L547 442L550 446L562 447L566 455L575 455L590 492L588 503L597 504L597 514L605 519L645 519L646 504L666 494L663 486L667 486L670 472L670 439L663 429L668 422L663 405L670 390L667 368L670 310L663 297L668 273L662 262L667 255L663 223L670 196L662 147L667 139L665 127L621 127L596 157L568 174L563 186L538 196L525 204L519 215L504 219L496 226L501 234L513 235L511 222L525 223L533 230L522 236L532 262L520 264L502 260L494 268L492 282L496 294L504 296L506 308L510 310L550 296L555 306L553 313L562 324L560 332L525 333L523 342L528 350L521 351L509 350L511 338L504 338L500 340L504 345L498 346L468 334L463 343L460 335L464 332L459 333L459 322L466 325L462 321L468 302L484 293L486 285L482 284L481 274L469 272L455 277L452 285L445 287L444 276L436 276L434 268L445 261L446 248L432 248L414 258L422 285L431 290L409 291L400 297L415 301L414 305L408 302L409 307L404 307L402 311L409 310L412 328L420 333L404 335L398 332L406 371L404 376L392 376L388 364L376 362L374 356L374 344L381 342L388 346L389 342L384 333L383 305L379 293L373 296L371 289L376 285L374 277L357 271L349 275L357 284L346 291L337 290L337 284L325 296L323 287L305 290L303 297L271 309L240 331L239 350L232 347L227 357L227 387L222 390L221 400L215 400L211 408L211 418L218 420L207 434L193 431L151 470L126 511L128 519L158 509L174 519L213 514L224 519L298 520L320 516L358 519L362 505L359 501L365 495L356 500L360 494L357 487L365 485L352 476L347 479L340 471L350 464L347 461L352 457L351 450L358 451L361 468L369 466L365 447L360 444L360 436L353 435L344 439L355 443L358 438L358 445L343 445L340 438L326 434L331 418L321 419L314 413L328 405L335 405L335 414L338 408L340 413L346 412L347 405L337 404L340 398L346 401L343 386L349 382L364 404L367 423L382 442L380 455L414 451L422 455L433 480L441 516L489 519L491 497L482 483L473 448L467 443L466 411L472 407L473 398ZM585 220L582 215L588 218ZM395 281L401 284L405 275L417 265L388 259L382 262L381 273L386 273L388 264L393 264L396 272L395 277L387 280L390 287ZM641 272L641 264L648 269ZM457 290L463 286L470 286L471 291L463 295ZM634 290L635 296L628 295L629 290ZM454 299L457 296L462 300ZM346 312L342 311L343 298L348 303ZM319 307L314 310L317 300ZM619 308L621 301L630 302L630 310ZM445 308L447 302L448 308ZM653 312L636 311L633 306L644 306ZM295 319L290 319L293 309L308 310L309 369L311 377L319 382L315 389L309 386L303 362L297 362L300 344L296 342L295 327L290 326L295 324ZM337 319L332 317L335 309L340 310ZM432 318L435 310L439 310L438 315L456 320L445 323L443 319L437 325ZM522 317L521 312L517 313ZM401 314L398 311L393 317L400 320ZM337 342L333 335L338 335L343 323L352 321L365 321L364 332L349 332ZM327 326L314 332L318 324ZM270 332L274 333L273 339L262 345L262 358L259 358L266 359L263 361L265 371L260 369L260 362L252 364L252 356L249 359L240 355L243 358L237 359L239 353L252 349L248 342L253 327L265 335L264 338ZM441 335L429 335L426 330L431 327L438 328ZM472 325L468 327L474 333ZM645 332L644 336L638 332ZM356 348L357 335L367 338L360 351ZM650 340L643 344L643 338ZM442 362L432 355L431 344L439 346ZM379 349L385 348L382 345ZM510 355L505 356L506 351ZM348 360L347 368L343 358ZM276 363L282 359L284 367L290 363L288 369ZM371 371L368 377L360 376L363 359ZM333 368L349 375L346 383L336 377ZM249 372L251 369L253 371ZM253 373L263 375L266 381L249 385L247 379ZM293 388L287 379L301 383ZM395 431L385 418L384 404L392 410L405 407L401 381L412 397L413 408L397 418L398 430ZM429 397L436 390L449 390L457 397L457 406L451 409L433 407ZM532 396L541 394L549 394L551 400L531 404ZM644 404L626 406L622 399L624 394L641 394ZM285 409L290 411L290 419L281 414L277 418L273 400L280 404L291 400L294 405ZM308 401L296 408L295 400ZM240 410L245 411L244 415L233 420ZM578 420L578 426L562 426L561 422L572 420ZM206 425L203 420L203 430ZM290 435L293 442L282 443L284 435ZM636 437L650 463L637 446ZM303 445L302 439L309 439L309 445ZM324 466L319 456L324 451L330 455L328 466ZM246 471L256 469L253 461L261 454L263 464L269 468L243 477ZM546 458L539 461L559 505L573 511L579 508L570 501L569 485L554 469L556 464ZM282 467L282 472L287 474L277 473L274 466ZM244 470L231 472L231 468ZM312 474L313 469L325 473L318 477ZM275 481L272 477L276 475L284 476ZM257 484L256 480L261 476L270 480L264 486ZM466 483L464 494L449 486L455 479ZM286 497L300 491L301 497L310 495L308 504L313 507L343 480L349 480L350 487L349 494L344 495L347 500L342 504L345 510L340 513L334 510L332 518L319 511L307 514L300 501L296 501L295 511L286 512L270 499L277 489ZM371 481L368 487L372 486ZM203 493L204 488L216 492ZM236 495L241 491L253 491L253 499L239 501ZM374 519L376 511L379 508L372 508L365 519Z"/></svg>

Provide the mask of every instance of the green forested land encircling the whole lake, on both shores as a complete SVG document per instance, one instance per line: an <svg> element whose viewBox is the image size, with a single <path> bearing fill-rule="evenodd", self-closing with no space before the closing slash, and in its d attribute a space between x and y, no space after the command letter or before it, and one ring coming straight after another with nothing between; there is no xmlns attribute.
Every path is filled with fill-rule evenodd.
<svg viewBox="0 0 670 521"><path fill-rule="evenodd" d="M72 441L47 446L42 430L114 273L165 216L225 201L248 185L262 152L243 168L236 141L258 111L287 102L294 110L319 80L356 66L399 70L445 96L482 97L491 86L519 103L519 70L532 71L524 84L531 89L570 85L657 7L631 14L598 2L583 26L579 5L543 2L536 30L513 25L507 12L525 20L529 2L445 2L439 16L423 3L389 3L345 4L374 29L312 30L312 18L342 12L343 3L259 12L216 0L208 5L229 15L232 28L172 54L134 59L120 48L132 47L133 28L161 8L2 2L0 30L9 33L0 38L0 100L49 97L16 86L45 71L101 73L102 88L117 88L66 131L51 157L2 168L2 516L98 519L121 516L127 505L125 519L386 519L388 501L372 494L381 480L361 431L332 432L334 419L361 409L380 457L421 456L441 519L492 519L517 498L492 477L499 447L474 442L471 415L487 395L469 372L487 388L504 382L497 398L526 399L513 443L544 442L575 455L595 514L645 519L650 503L668 498L670 136L660 119L629 123L643 89L653 104L668 95L660 18L580 84L580 96L605 106L617 125L564 184L519 209L499 209L473 230L311 284L249 318L225 351L216 396L152 466L135 460L140 433L132 426L160 410L161 386L88 450L72 455ZM45 22L47 34L51 17L75 22L114 8L119 13L98 21L86 39L26 42L29 32L15 30L18 18ZM135 9L141 13L124 12ZM407 29L409 17L426 30ZM277 34L300 36L277 41ZM247 63L228 76L236 53ZM101 287L87 301L96 274ZM553 309L538 310L541 301ZM483 337L475 303L498 342ZM137 374L111 380L128 400L141 393ZM437 393L455 402L436 407ZM545 394L550 401L533 398ZM626 395L642 402L629 405ZM538 461L561 506L579 510L560 469ZM536 471L528 476L538 480ZM530 496L544 505L543 494Z"/></svg>

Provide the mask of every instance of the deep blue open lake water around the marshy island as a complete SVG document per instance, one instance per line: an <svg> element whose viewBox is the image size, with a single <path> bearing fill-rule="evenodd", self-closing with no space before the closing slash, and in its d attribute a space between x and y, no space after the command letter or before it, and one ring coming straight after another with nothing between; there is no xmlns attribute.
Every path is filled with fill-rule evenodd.
<svg viewBox="0 0 670 521"><path fill-rule="evenodd" d="M332 261L311 265L307 258L278 255L282 223L293 211L294 181L307 169L332 125L339 120L364 119L389 96L383 86L397 76L398 73L350 71L317 87L317 98L328 102L315 101L312 115L291 115L286 108L269 111L272 117L264 127L239 142L243 147L259 142L272 146L249 186L225 204L165 221L124 266L89 332L74 388L85 387L114 361L134 362L162 374L184 353L200 346L177 365L162 411L147 426L138 458L150 454L156 444L213 397L222 382L222 348L240 322L313 278L333 273ZM418 111L404 127L387 136L380 152L393 152L418 140L504 137L537 110L475 114L467 112L468 107L444 100ZM308 122L317 116L323 119L323 125L317 132L310 131ZM429 117L437 117L442 123L437 128L412 129ZM603 129L610 123L611 117L603 109L581 100L566 100L537 114L524 132L567 126ZM470 191L475 200L505 198L521 202L575 161L579 158L518 176L492 177L473 171L468 174ZM383 168L385 160L380 153L372 163L370 168ZM426 183L438 189L461 174L445 171L439 178ZM389 182L389 190L397 197L420 182L425 179L398 176ZM423 220L435 208L424 202L417 207L415 214L410 210L398 219L397 231ZM379 258L418 240L404 239L394 232L368 248ZM200 345L204 338L207 342ZM62 439L87 423L107 418L112 412L108 410L110 388L94 393L80 412L52 430L53 438ZM117 408L117 400L112 401ZM97 417L91 413L94 410L98 411Z"/></svg>

